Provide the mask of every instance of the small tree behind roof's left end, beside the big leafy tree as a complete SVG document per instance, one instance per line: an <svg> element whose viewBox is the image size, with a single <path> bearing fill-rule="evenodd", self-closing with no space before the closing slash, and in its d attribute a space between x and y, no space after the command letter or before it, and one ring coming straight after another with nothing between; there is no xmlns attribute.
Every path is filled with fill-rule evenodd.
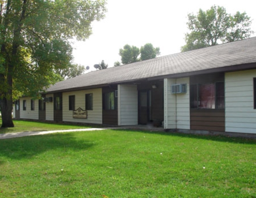
<svg viewBox="0 0 256 198"><path fill-rule="evenodd" d="M70 79L76 76L80 76L85 71L84 65L69 64L68 67L63 69L54 69L54 72L61 76L61 80Z"/></svg>

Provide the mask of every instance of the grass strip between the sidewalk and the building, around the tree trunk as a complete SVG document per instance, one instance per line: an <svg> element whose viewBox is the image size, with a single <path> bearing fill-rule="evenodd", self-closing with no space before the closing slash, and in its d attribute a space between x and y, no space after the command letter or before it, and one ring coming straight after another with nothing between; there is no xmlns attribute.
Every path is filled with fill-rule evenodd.
<svg viewBox="0 0 256 198"><path fill-rule="evenodd" d="M13 120L15 127L13 128L0 128L0 133L18 133L24 131L50 131L50 130L65 130L65 129L82 129L90 128L88 126L77 126L72 124L56 124L56 123L43 123L43 122L28 122L21 120ZM0 118L0 126L2 119Z"/></svg>

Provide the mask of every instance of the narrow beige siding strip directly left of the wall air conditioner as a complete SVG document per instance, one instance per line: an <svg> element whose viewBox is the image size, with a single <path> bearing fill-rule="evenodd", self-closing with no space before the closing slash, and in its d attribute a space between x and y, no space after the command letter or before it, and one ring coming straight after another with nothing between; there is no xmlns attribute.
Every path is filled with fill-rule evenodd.
<svg viewBox="0 0 256 198"><path fill-rule="evenodd" d="M176 129L176 95L171 94L175 79L164 79L164 129Z"/></svg>

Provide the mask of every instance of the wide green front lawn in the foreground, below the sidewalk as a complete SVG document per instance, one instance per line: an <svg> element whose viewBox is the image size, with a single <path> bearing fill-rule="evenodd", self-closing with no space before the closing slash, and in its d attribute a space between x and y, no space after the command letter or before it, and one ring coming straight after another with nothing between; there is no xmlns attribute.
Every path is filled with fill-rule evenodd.
<svg viewBox="0 0 256 198"><path fill-rule="evenodd" d="M255 140L105 130L0 140L0 151L1 198L256 197Z"/></svg>

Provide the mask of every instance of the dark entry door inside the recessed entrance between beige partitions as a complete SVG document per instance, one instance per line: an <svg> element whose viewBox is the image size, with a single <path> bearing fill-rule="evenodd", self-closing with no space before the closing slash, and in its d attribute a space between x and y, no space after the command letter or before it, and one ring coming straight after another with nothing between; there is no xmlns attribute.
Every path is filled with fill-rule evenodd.
<svg viewBox="0 0 256 198"><path fill-rule="evenodd" d="M139 92L139 124L145 125L151 120L151 90Z"/></svg>

